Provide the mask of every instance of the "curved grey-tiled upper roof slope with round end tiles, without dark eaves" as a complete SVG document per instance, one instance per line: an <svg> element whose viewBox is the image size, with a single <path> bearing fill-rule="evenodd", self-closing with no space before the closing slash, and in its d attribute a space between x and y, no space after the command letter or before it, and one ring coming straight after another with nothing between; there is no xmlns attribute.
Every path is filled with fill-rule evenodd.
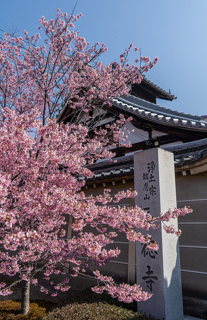
<svg viewBox="0 0 207 320"><path fill-rule="evenodd" d="M155 122L163 122L182 127L194 127L207 129L207 122L201 116L193 116L176 110L161 107L149 101L129 95L113 99L113 105L129 111L129 114L137 114L140 117L150 118Z"/></svg>

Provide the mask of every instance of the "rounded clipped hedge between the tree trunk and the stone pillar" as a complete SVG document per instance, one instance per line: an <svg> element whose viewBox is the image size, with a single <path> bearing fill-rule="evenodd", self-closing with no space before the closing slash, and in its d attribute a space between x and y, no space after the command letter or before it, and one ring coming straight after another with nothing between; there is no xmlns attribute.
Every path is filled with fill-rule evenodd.
<svg viewBox="0 0 207 320"><path fill-rule="evenodd" d="M45 316L45 320L159 320L137 312L137 302L124 303L106 292L97 294L91 288L69 293L67 301L60 302Z"/></svg>

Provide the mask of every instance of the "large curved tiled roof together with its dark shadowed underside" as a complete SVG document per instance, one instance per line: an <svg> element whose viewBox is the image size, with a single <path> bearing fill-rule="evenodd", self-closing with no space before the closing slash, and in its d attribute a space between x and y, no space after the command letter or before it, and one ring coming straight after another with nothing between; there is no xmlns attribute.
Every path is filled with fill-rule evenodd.
<svg viewBox="0 0 207 320"><path fill-rule="evenodd" d="M156 130L188 141L207 138L207 122L201 116L163 108L154 103L129 95L113 100L112 106L104 108L113 115L122 113L132 116L132 123L142 130Z"/></svg>

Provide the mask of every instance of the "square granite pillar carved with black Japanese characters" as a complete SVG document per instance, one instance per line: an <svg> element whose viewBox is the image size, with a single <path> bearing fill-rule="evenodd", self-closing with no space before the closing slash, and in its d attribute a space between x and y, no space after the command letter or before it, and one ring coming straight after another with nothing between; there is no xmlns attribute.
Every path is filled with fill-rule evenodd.
<svg viewBox="0 0 207 320"><path fill-rule="evenodd" d="M134 153L135 204L154 217L176 207L173 153L153 148ZM165 320L182 320L181 268L178 237L166 234L163 223L159 229L144 231L159 245L158 251L148 250L136 243L137 284L152 293L146 301L138 302L138 310ZM166 223L178 228L177 219Z"/></svg>

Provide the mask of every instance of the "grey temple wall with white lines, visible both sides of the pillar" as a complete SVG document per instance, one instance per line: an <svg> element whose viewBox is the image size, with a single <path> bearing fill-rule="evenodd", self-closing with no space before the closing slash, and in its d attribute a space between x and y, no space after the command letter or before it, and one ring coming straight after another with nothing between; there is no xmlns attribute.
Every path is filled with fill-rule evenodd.
<svg viewBox="0 0 207 320"><path fill-rule="evenodd" d="M178 226L182 230L182 235L179 238L182 293L183 296L192 297L192 299L205 300L207 298L207 177L198 177L196 175L189 175L188 179L186 179L186 176L181 176L183 180L176 179L176 194L177 207L184 207L186 205L193 209L192 213L179 217L178 219ZM113 178L110 179L111 181L104 180L106 187L102 187L101 182L103 182L103 180L100 181L100 183L96 181L96 191L94 190L94 185L91 184L88 186L91 190L88 194L100 194L104 188L111 188L114 194L119 190L126 190L127 188L123 188L125 185L128 188L130 186L133 187L133 180L130 183L127 183L126 180L126 184L124 185L121 179L120 177L119 180L115 180L115 185L112 184ZM129 200L130 199L122 199L120 204L131 206L132 203L130 203ZM88 226L86 229L89 231ZM132 245L131 243L128 244L126 236L122 233L118 233L118 236L114 240L115 244L112 247L116 248L118 246L123 253L110 264L101 267L100 271L103 272L104 275L113 276L115 281L136 282L134 243ZM119 277L120 274L123 275L122 279Z"/></svg>

